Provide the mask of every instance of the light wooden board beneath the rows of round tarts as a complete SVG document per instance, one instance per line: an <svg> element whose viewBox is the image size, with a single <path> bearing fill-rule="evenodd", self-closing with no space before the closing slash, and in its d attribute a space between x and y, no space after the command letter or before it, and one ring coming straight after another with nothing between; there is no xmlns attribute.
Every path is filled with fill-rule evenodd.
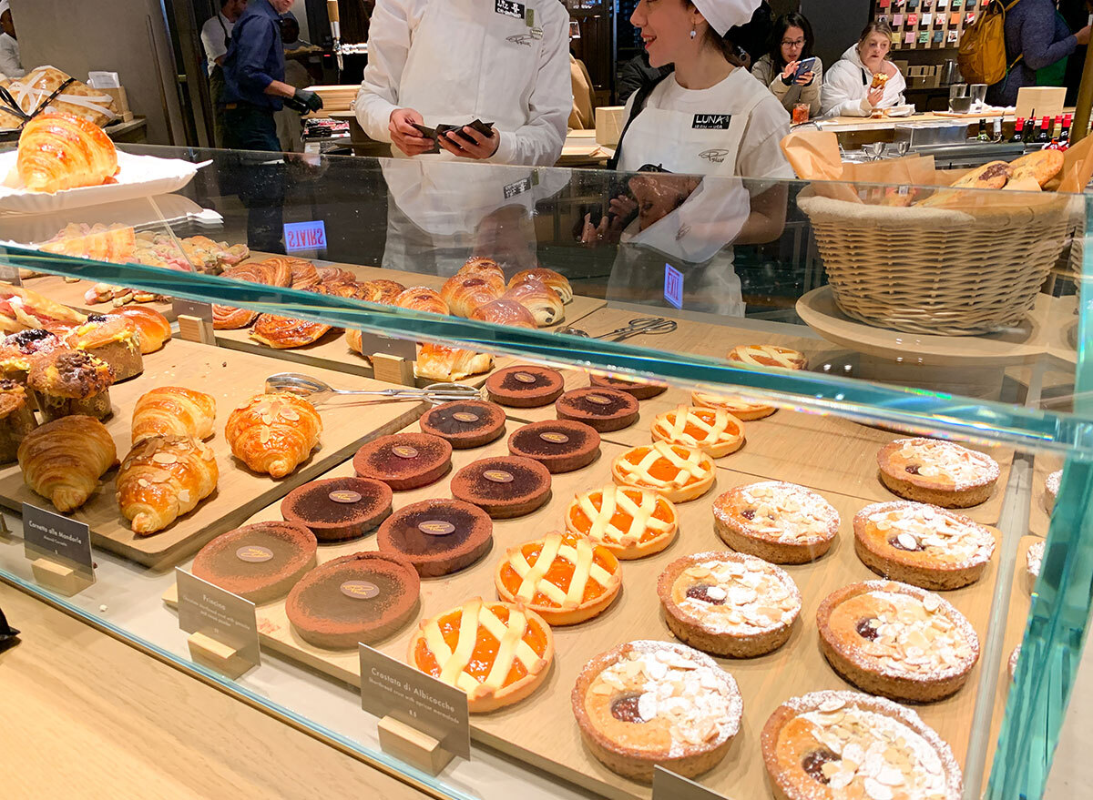
<svg viewBox="0 0 1093 800"><path fill-rule="evenodd" d="M509 421L509 433L517 427L519 423ZM418 426L410 430L416 431ZM785 436L790 440L798 440L796 432L786 431ZM562 529L564 513L573 495L590 486L610 483L611 461L623 449L620 445L603 443L600 458L589 467L553 475L552 497L544 507L527 517L495 521L493 549L482 560L455 575L423 579L419 619L428 619L471 597L494 598L494 569L506 550L551 530ZM453 470L483 457L506 452L504 438L486 447L456 450ZM832 463L845 460L839 454L832 452L828 456ZM340 466L328 477L346 474L352 474L351 463ZM648 798L648 787L615 775L588 753L581 744L573 718L569 693L577 672L595 655L631 639L672 639L655 591L657 576L669 563L681 556L695 552L725 551L726 546L714 532L712 503L721 492L754 480L755 475L721 469L718 470L717 481L710 492L696 501L680 504L680 533L677 540L661 553L640 561L623 562L622 592L606 612L580 625L554 628L555 659L544 685L530 698L515 706L487 715L472 715L472 737L606 797ZM450 473L432 486L397 492L395 508L426 498L450 496L449 482ZM858 561L853 542L853 516L870 501L833 491L823 491L823 495L839 511L839 536L832 550L820 561L787 567L803 597L801 616L789 642L779 650L755 659L718 659L719 664L731 672L740 685L744 715L740 734L733 741L728 756L701 780L727 796L768 796L759 733L777 705L792 695L847 687L826 664L820 651L815 612L823 598L835 589L877 577ZM273 505L249 521L280 518L279 506ZM320 546L318 560L325 563L349 553L375 549L375 536L369 534L350 543ZM997 558L977 584L945 592L945 598L968 617L984 638L996 576ZM259 607L258 619L261 640L266 647L338 680L359 683L356 650L331 651L303 642L287 622L283 600ZM374 643L374 646L395 658L404 659L414 627L414 623L410 623L393 636ZM978 675L979 668L976 667L966 686L956 695L940 703L916 707L925 721L951 744L961 764L966 756L966 732L972 722Z"/></svg>

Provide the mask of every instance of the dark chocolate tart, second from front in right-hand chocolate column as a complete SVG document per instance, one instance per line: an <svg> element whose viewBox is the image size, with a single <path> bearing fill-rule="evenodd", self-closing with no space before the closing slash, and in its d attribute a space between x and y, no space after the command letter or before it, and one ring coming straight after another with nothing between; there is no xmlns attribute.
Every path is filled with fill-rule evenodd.
<svg viewBox="0 0 1093 800"><path fill-rule="evenodd" d="M455 499L430 499L403 506L379 526L376 544L395 553L423 578L470 566L493 545L493 520L478 506Z"/></svg>

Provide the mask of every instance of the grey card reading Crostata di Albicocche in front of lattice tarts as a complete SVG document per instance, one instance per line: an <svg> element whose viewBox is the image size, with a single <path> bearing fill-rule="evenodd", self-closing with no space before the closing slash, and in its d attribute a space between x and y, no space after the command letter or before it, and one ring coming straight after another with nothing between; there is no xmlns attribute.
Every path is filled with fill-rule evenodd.
<svg viewBox="0 0 1093 800"><path fill-rule="evenodd" d="M471 757L467 694L367 645L361 645L361 707L427 733L449 753Z"/></svg>

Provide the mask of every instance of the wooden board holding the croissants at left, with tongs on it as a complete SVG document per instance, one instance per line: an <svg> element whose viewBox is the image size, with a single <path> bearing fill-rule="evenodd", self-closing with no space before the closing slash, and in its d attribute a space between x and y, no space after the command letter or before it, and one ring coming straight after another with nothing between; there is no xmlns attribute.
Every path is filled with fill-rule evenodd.
<svg viewBox="0 0 1093 800"><path fill-rule="evenodd" d="M165 530L138 537L118 510L115 499L118 471L111 469L103 477L91 499L72 514L91 527L94 545L146 566L165 567L177 563L295 486L344 461L359 443L406 426L427 408L423 402L364 404L360 400L346 402L343 399L325 403L318 407L324 423L319 448L293 474L277 481L251 472L232 456L224 438L224 425L232 410L261 393L267 376L280 369L277 362L261 356L172 340L160 352L144 356L142 375L111 387L114 413L105 424L114 437L119 459L129 451L133 405L144 392L160 386L185 386L215 397L215 434L208 444L216 455L220 481L216 491L188 515ZM314 369L312 374L336 388L388 388L341 373ZM21 510L24 502L52 510L48 499L24 484L19 464L0 468L0 505Z"/></svg>

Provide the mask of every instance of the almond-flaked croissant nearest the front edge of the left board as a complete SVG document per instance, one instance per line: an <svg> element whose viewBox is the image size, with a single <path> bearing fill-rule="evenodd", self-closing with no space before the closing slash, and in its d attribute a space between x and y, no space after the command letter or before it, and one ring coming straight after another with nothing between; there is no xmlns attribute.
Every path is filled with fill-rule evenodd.
<svg viewBox="0 0 1093 800"><path fill-rule="evenodd" d="M118 507L134 533L163 530L216 489L212 448L190 436L141 439L121 462Z"/></svg>

